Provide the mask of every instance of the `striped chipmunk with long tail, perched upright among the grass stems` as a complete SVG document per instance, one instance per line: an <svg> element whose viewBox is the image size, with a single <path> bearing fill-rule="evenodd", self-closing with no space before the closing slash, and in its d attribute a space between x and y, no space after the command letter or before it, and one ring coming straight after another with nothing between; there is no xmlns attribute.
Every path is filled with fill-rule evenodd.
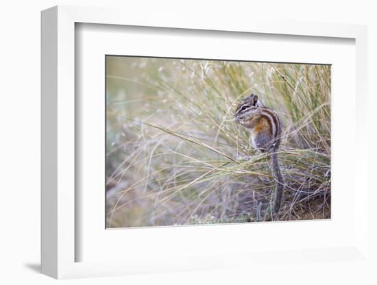
<svg viewBox="0 0 377 285"><path fill-rule="evenodd" d="M278 153L276 153L280 147L282 134L280 118L275 111L266 108L258 96L252 94L243 99L236 108L234 121L250 131L250 142L254 149L262 153L271 153L271 172L276 179L276 191L273 198L273 214L276 216L284 194L284 178L279 167Z"/></svg>

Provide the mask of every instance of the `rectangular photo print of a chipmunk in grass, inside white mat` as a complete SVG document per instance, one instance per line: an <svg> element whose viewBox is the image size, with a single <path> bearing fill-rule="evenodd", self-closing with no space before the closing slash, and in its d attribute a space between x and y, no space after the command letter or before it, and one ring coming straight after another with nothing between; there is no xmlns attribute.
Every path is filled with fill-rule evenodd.
<svg viewBox="0 0 377 285"><path fill-rule="evenodd" d="M106 227L330 219L331 66L106 55Z"/></svg>

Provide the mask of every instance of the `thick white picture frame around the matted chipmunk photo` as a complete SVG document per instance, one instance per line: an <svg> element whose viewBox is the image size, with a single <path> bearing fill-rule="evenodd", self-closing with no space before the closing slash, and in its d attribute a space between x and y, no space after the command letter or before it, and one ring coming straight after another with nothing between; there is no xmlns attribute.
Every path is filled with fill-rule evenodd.
<svg viewBox="0 0 377 285"><path fill-rule="evenodd" d="M134 11L104 8L57 6L42 12L42 273L55 278L95 277L125 275L132 273L169 272L245 267L265 267L273 263L313 261L328 264L330 261L366 262L369 266L367 238L367 149L362 145L367 140L365 132L367 101L367 29L362 25L333 23L273 22L247 19L223 23L174 18L167 13L149 14L141 17ZM287 249L286 251L227 252L222 256L197 253L180 260L164 260L161 256L127 258L96 262L77 262L77 177L75 177L75 118L80 116L75 109L75 24L124 25L171 29L228 31L256 34L280 34L302 37L348 38L356 47L356 140L355 179L358 190L354 200L355 236L341 247ZM104 117L102 117L104 118ZM360 167L356 167L360 166ZM356 184L355 184L356 185ZM356 187L356 186L354 186ZM229 225L228 225L229 226ZM280 224L280 228L284 224ZM205 227L196 228L204 231ZM210 227L207 232L217 231ZM104 229L105 230L105 229ZM142 229L143 230L143 229ZM193 229L195 230L195 229ZM163 236L164 233L162 233ZM303 256L305 256L303 258ZM162 260L162 262L161 262ZM237 260L237 262L234 262ZM368 263L369 262L369 263ZM260 263L262 265L260 265ZM263 265L265 264L265 265ZM276 266L276 265L275 265ZM355 265L356 266L356 265ZM340 270L335 268L334 270Z"/></svg>

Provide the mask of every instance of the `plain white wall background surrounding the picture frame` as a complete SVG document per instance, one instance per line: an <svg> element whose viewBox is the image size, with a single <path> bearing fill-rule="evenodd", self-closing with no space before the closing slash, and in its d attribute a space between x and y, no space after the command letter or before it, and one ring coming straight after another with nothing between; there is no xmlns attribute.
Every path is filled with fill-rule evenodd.
<svg viewBox="0 0 377 285"><path fill-rule="evenodd" d="M377 94L377 20L374 1L3 1L0 8L0 280L2 284L55 282L37 273L40 251L40 10L53 5L112 6L127 9L171 10L210 21L211 14L223 14L224 22L234 17L276 16L302 21L367 24L369 28L369 94ZM373 113L376 96L365 108ZM352 102L351 102L352 103ZM376 123L375 118L371 118ZM374 129L376 129L374 127ZM371 125L372 130L372 125ZM375 135L374 135L375 136ZM369 142L372 147L372 141ZM374 157L376 152L374 151ZM370 163L370 161L369 161ZM370 197L369 197L370 199ZM297 279L297 269L287 269L282 281L291 284L367 284L345 267L343 275L330 271L309 272ZM273 274L273 273L272 273ZM327 276L326 276L327 275ZM326 276L326 277L325 277ZM268 280L268 275L266 275ZM8 280L8 282L5 282ZM371 281L371 280L369 280ZM70 280L69 284L230 284L253 283L250 272L236 270L175 273L110 279Z"/></svg>

